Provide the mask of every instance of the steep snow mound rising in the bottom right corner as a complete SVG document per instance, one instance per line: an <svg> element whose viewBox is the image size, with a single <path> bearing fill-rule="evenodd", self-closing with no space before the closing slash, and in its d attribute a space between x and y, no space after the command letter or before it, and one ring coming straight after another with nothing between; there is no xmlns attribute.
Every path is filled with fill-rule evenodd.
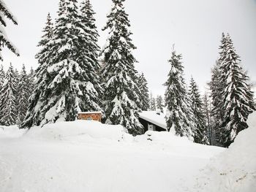
<svg viewBox="0 0 256 192"><path fill-rule="evenodd" d="M249 128L203 170L195 188L211 192L252 192L256 188L256 112L249 116Z"/></svg>

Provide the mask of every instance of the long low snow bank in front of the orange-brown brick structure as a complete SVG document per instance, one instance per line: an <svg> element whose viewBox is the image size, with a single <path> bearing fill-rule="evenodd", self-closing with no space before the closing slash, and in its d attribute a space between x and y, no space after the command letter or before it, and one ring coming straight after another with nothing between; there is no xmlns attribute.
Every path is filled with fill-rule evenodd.
<svg viewBox="0 0 256 192"><path fill-rule="evenodd" d="M94 139L120 140L124 137L123 126L110 126L94 120L76 120L72 122L57 122L43 127L32 127L25 137L36 139L71 139L91 137Z"/></svg>

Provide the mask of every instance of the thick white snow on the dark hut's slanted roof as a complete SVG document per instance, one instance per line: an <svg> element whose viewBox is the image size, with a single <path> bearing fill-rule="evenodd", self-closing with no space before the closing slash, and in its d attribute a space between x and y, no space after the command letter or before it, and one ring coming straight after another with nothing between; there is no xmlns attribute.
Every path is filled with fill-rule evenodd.
<svg viewBox="0 0 256 192"><path fill-rule="evenodd" d="M156 111L143 111L139 113L140 118L147 120L150 123L155 124L156 126L167 128L166 121L165 121L165 114L159 113L157 114Z"/></svg>

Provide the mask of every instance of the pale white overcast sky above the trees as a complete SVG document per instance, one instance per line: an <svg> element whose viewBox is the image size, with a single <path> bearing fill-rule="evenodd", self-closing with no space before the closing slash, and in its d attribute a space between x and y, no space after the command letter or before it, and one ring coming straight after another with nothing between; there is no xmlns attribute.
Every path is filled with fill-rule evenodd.
<svg viewBox="0 0 256 192"><path fill-rule="evenodd" d="M19 58L9 50L3 51L4 67L7 69L12 62L17 69L22 64L36 69L36 45L48 12L56 17L59 0L4 1L18 18L19 25L9 23L6 31L20 50ZM107 33L101 28L112 1L91 0L91 4L97 12L102 46ZM136 68L145 74L154 96L165 92L162 84L170 70L167 60L173 44L183 55L187 82L193 76L204 91L218 58L222 32L230 33L244 69L256 81L256 0L127 0L124 5L132 25L132 39L138 47L134 52L139 61Z"/></svg>

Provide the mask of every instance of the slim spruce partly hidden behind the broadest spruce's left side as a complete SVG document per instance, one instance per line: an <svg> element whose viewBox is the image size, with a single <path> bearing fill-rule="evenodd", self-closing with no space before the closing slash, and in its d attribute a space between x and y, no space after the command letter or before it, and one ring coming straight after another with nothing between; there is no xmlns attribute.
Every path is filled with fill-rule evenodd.
<svg viewBox="0 0 256 192"><path fill-rule="evenodd" d="M64 1L61 0L59 3L59 15L60 12L64 12ZM50 82L49 74L47 72L48 66L50 66L50 50L51 45L50 42L53 38L53 23L50 17L50 13L48 13L47 20L45 23L45 28L42 30L42 37L38 43L38 47L40 47L39 53L35 55L39 66L36 72L31 71L29 74L29 93L31 96L29 97L29 106L26 112L26 117L21 123L21 128L30 128L31 126L39 126L44 115L42 114L42 107L45 106L48 98L45 96L44 91L47 90L48 83ZM31 69L32 70L32 69ZM34 77L36 77L36 81L34 81ZM35 84L31 86L31 84Z"/></svg>

